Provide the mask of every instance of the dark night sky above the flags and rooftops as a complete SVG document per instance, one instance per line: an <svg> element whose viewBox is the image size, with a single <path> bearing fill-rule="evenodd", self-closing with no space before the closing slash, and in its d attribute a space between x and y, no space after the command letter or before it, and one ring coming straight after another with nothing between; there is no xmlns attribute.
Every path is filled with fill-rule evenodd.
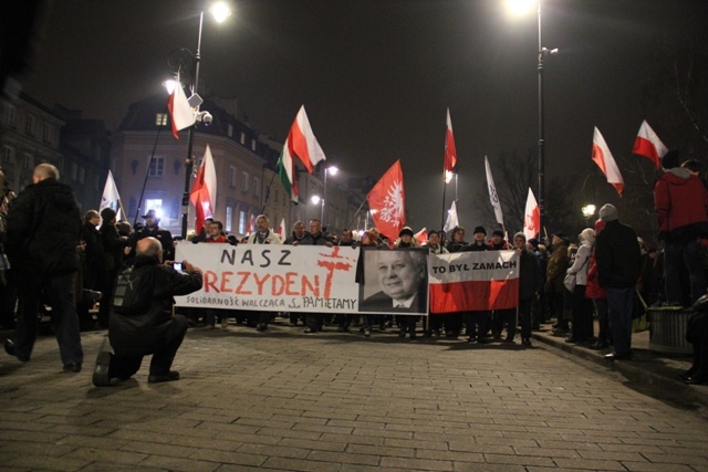
<svg viewBox="0 0 708 472"><path fill-rule="evenodd" d="M132 102L159 92L169 52L196 49L201 7L54 1L25 92L115 129ZM461 223L489 223L476 210L489 206L477 199L485 155L493 169L500 153L525 156L538 140L534 10L512 19L500 0L242 0L233 10L221 25L205 17L202 94L237 97L239 117L280 139L304 104L327 159L350 176L378 178L400 159L416 229L439 225L449 106ZM646 116L643 84L664 38L702 34L706 20L704 0L544 0L543 43L561 49L545 67L549 174L593 169L593 126L615 157L645 117L670 147L674 130Z"/></svg>

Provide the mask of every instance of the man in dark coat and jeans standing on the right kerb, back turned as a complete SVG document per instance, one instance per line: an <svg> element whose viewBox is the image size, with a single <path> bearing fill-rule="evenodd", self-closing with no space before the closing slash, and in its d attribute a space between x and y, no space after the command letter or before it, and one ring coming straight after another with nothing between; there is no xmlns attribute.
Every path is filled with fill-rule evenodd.
<svg viewBox="0 0 708 472"><path fill-rule="evenodd" d="M607 360L632 358L632 311L639 279L642 253L637 233L617 220L617 209L607 203L600 209L606 224L595 240L597 281L607 291L607 311L614 353Z"/></svg>

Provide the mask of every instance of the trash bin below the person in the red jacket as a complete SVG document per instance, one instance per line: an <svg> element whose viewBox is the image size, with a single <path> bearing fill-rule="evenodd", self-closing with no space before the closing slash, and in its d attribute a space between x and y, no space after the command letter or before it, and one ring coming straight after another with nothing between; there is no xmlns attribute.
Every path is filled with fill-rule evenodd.
<svg viewBox="0 0 708 472"><path fill-rule="evenodd" d="M668 354L693 354L686 340L690 310L649 308L649 350Z"/></svg>

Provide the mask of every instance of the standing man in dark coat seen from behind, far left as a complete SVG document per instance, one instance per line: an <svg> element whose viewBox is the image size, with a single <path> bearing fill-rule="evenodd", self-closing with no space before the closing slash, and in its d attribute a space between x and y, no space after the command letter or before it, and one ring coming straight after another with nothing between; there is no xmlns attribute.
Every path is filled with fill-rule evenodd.
<svg viewBox="0 0 708 472"><path fill-rule="evenodd" d="M32 181L8 212L6 250L17 273L19 301L14 340L7 339L4 349L21 361L30 360L44 291L64 371L77 373L84 358L74 300L81 216L74 191L59 181L56 167L40 164Z"/></svg>

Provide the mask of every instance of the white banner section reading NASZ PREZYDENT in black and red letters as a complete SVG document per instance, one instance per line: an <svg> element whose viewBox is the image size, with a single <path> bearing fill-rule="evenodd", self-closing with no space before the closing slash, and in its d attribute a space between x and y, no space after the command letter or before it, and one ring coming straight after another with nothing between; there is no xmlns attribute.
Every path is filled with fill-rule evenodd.
<svg viewBox="0 0 708 472"><path fill-rule="evenodd" d="M200 291L178 306L264 312L353 313L360 250L284 244L177 244L178 261L204 271Z"/></svg>

